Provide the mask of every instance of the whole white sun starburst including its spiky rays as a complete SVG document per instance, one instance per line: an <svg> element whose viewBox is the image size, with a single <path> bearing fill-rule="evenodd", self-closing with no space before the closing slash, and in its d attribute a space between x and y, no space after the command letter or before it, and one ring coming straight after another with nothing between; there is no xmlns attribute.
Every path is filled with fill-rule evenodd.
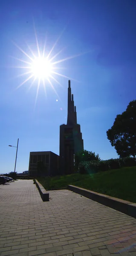
<svg viewBox="0 0 136 256"><path fill-rule="evenodd" d="M34 30L35 30L35 26L34 26ZM12 58L22 63L22 65L17 64L17 66L15 67L20 68L23 71L26 70L24 73L19 75L20 77L27 76L25 79L23 79L22 83L17 86L17 89L21 87L23 84L28 83L29 84L28 90L29 90L32 87L32 85L37 81L37 92L36 92L35 104L37 102L38 92L41 84L43 84L45 93L46 93L46 85L49 84L49 86L52 87L55 94L58 96L58 93L55 87L56 87L56 84L61 85L61 83L59 82L59 79L56 78L56 76L58 76L58 78L62 77L66 79L75 80L70 78L69 76L62 74L62 70L64 70L65 67L64 65L61 66L61 64L64 61L70 60L72 58L75 58L87 53L87 52L84 52L84 53L73 55L67 58L58 59L58 55L60 55L60 53L64 50L65 47L56 53L53 53L53 51L56 44L58 43L58 40L61 38L61 35L58 37L58 39L56 40L55 44L52 46L50 51L46 49L46 42L42 47L43 50L41 50L41 47L39 47L38 37L35 30L35 39L36 39L35 48L37 49L37 54L35 54L35 52L31 49L29 44L27 44L29 51L24 51L20 46L18 46L16 43L12 41L12 43L20 50L20 52L23 53L25 57L25 59L22 59L22 58L16 58L15 56L11 56Z"/></svg>

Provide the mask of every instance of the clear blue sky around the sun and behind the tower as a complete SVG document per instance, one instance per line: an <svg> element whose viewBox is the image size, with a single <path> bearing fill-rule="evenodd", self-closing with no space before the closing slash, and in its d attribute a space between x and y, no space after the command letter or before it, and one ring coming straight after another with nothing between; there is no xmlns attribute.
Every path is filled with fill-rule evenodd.
<svg viewBox="0 0 136 256"><path fill-rule="evenodd" d="M54 75L46 95L38 80L29 89L28 75L19 76L27 66L15 58L29 59L14 41L32 57L36 53L35 29L40 51L46 40L51 56L61 49L55 61L56 72L71 80L72 93L81 125L84 149L95 151L101 159L116 158L107 140L116 115L136 99L136 1L135 0L5 0L0 9L0 173L14 171L19 138L17 172L28 170L30 151L53 151L59 154L59 126L67 122L68 78ZM34 20L34 23L33 23ZM63 33L62 33L63 31ZM87 53L85 53L87 52ZM85 54L83 54L85 53ZM11 56L15 57L12 58ZM56 101L58 99L58 101Z"/></svg>

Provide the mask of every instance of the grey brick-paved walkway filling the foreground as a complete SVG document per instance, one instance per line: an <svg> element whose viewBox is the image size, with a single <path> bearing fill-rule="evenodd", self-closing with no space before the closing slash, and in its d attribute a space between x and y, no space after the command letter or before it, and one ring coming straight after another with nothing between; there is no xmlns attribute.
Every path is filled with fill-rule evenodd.
<svg viewBox="0 0 136 256"><path fill-rule="evenodd" d="M0 256L136 256L136 219L32 180L0 185Z"/></svg>

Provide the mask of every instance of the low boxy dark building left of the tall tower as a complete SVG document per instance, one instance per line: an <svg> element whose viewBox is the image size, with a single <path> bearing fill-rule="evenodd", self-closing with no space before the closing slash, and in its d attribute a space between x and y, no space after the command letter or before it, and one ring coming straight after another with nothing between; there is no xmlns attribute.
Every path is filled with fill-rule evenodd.
<svg viewBox="0 0 136 256"><path fill-rule="evenodd" d="M30 152L29 176L58 175L59 156L52 151Z"/></svg>

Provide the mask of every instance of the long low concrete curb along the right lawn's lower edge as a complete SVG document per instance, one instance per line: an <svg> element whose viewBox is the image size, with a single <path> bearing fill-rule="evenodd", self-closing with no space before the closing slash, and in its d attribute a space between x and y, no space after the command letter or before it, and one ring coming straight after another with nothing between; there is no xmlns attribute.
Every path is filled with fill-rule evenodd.
<svg viewBox="0 0 136 256"><path fill-rule="evenodd" d="M136 218L136 203L125 201L119 198L114 198L109 195L103 195L91 190L83 189L77 186L68 185L67 189L83 195L86 198L92 199L100 204L104 204L119 212L123 212L131 217Z"/></svg>

